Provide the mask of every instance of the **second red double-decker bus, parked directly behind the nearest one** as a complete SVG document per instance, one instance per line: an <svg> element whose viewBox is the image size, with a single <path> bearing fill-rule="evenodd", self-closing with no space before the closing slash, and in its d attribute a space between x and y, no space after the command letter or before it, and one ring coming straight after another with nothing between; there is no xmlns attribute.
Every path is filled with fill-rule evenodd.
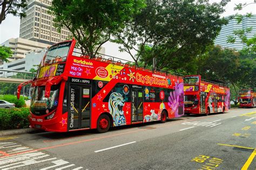
<svg viewBox="0 0 256 170"><path fill-rule="evenodd" d="M202 80L200 75L188 75L184 81L185 114L225 112L230 107L230 89L223 83Z"/></svg>

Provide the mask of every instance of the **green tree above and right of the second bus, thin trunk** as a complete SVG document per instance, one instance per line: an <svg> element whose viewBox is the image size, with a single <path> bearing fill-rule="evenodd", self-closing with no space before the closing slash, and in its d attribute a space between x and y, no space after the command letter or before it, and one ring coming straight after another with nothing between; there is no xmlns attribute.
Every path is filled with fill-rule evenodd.
<svg viewBox="0 0 256 170"><path fill-rule="evenodd" d="M206 53L184 63L183 74L198 75L203 79L227 82L231 100L237 105L240 89L255 88L256 61L254 55L230 48L209 46Z"/></svg>

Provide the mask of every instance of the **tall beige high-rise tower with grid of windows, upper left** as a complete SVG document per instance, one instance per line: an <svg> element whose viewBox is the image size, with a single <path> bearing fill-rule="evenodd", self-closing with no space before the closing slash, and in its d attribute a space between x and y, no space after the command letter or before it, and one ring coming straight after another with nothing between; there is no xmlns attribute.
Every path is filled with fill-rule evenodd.
<svg viewBox="0 0 256 170"><path fill-rule="evenodd" d="M66 27L58 33L53 26L53 16L48 13L51 0L27 2L28 9L25 10L26 17L21 19L19 37L51 45L70 38L71 34Z"/></svg>

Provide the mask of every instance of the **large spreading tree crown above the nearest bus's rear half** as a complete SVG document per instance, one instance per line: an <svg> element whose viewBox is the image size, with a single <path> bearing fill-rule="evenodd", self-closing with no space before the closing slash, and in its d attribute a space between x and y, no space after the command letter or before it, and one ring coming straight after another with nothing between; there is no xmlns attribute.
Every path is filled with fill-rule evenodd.
<svg viewBox="0 0 256 170"><path fill-rule="evenodd" d="M137 51L136 56L132 56L135 62L139 59L151 65L156 57L157 67L161 69L179 69L181 62L205 52L221 26L227 23L220 17L225 3L147 0L146 4L123 32L115 34L113 41L131 56L131 49Z"/></svg>

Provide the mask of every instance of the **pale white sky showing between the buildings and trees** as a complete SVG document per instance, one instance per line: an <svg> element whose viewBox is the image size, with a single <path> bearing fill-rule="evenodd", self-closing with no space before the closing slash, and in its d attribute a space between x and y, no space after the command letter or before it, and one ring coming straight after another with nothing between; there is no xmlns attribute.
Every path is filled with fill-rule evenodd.
<svg viewBox="0 0 256 170"><path fill-rule="evenodd" d="M210 3L220 2L221 0L210 0ZM225 12L223 13L223 17L233 15L235 13L245 14L248 12L252 12L256 14L256 3L253 3L254 0L231 0L228 2L225 8ZM234 11L235 4L239 3L253 3L245 6L241 11ZM6 19L0 25L0 44L10 38L18 38L19 37L19 17L14 17L12 15L8 15ZM127 53L121 53L118 51L118 45L113 44L112 42L106 42L103 47L105 47L105 54L116 56L118 58L131 60L131 57Z"/></svg>

